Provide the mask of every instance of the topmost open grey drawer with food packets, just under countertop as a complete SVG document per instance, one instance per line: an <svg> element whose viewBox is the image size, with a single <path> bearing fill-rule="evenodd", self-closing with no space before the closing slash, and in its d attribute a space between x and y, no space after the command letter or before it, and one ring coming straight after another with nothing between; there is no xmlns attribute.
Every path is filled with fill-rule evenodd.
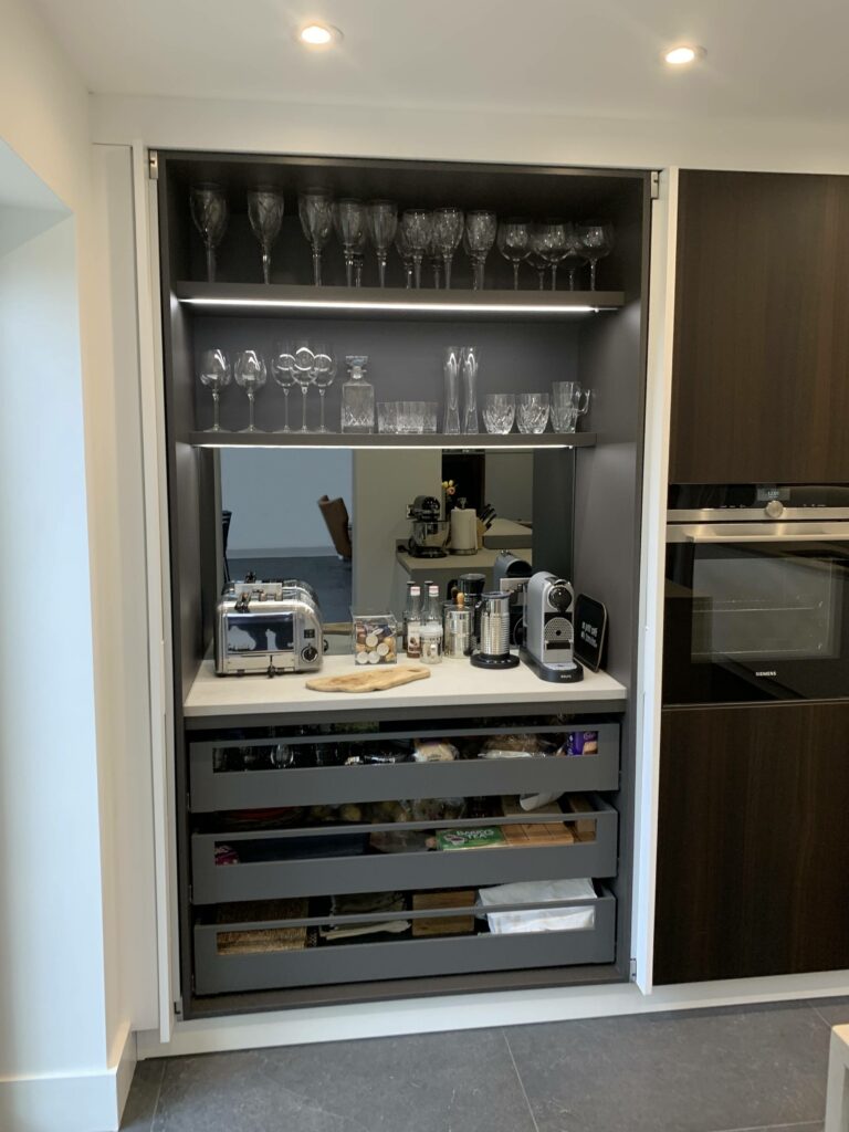
<svg viewBox="0 0 849 1132"><path fill-rule="evenodd" d="M569 732L593 731L597 752L547 758L460 758L444 763L400 762L385 765L274 767L281 747L310 751L331 761L341 747L405 743L421 731L321 735L286 739L203 740L189 745L190 806L194 813L272 806L343 805L395 798L455 798L483 795L616 790L619 784L619 724L481 728L465 730L464 741L531 731L559 744ZM453 731L438 732L454 737Z"/></svg>

